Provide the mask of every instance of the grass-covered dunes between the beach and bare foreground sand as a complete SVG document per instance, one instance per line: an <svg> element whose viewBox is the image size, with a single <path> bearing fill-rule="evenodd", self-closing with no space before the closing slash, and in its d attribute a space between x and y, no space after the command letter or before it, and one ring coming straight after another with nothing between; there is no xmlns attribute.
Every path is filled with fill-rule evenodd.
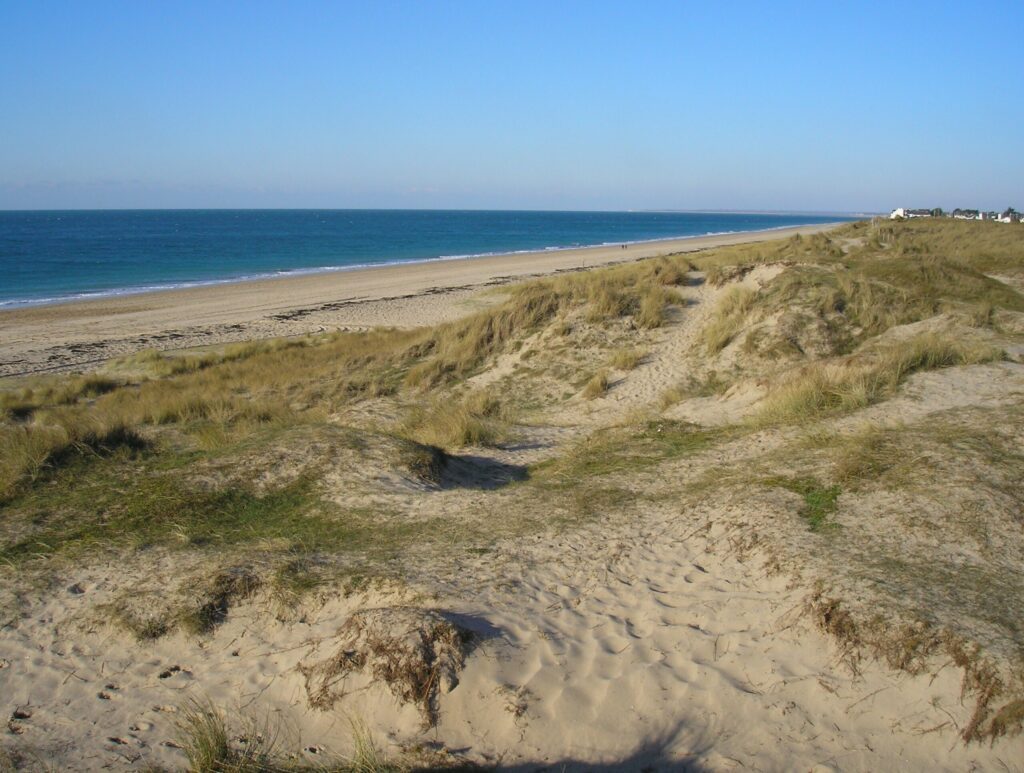
<svg viewBox="0 0 1024 773"><path fill-rule="evenodd" d="M760 291L727 289L700 333L703 358L728 358L712 391L751 378L768 385L748 422L712 430L666 420L654 405L637 406L648 414L563 448L527 479L524 470L481 472L499 480L481 487L502 513L500 524L486 513L454 522L441 506L404 516L409 495L396 493L398 483L420 486L441 504L460 496L459 484L438 485L446 458L435 446L458 453L466 444L501 442L517 422L544 421L572 400L600 397L609 388L608 364L625 373L646 356L650 331L666 324L667 310L679 303L676 288L692 268L709 285L723 286L769 263L785 268ZM951 654L968 670L967 686L987 696L965 737L1019 731L1022 704L1015 696L1024 692L1013 683L1012 661L1024 653L1024 634L1015 628L1020 616L1011 619L1019 598L1002 603L1001 614L992 602L1000 582L1017 593L1019 570L975 561L967 584L963 573L940 571L951 559L916 526L906 526L906 534L938 556L929 571L927 561L911 566L894 547L898 528L847 522L882 493L901 498L909 512L934 512L929 488L942 483L936 477L942 473L930 470L961 458L971 465L959 470L959 487L939 502L934 523L950 540L970 529L979 545L1001 539L1007 513L1024 507L1012 482L1020 479L1014 473L1022 459L1014 437L1005 437L1008 422L1020 426L1019 412L978 412L973 427L947 418L852 436L827 426L888 399L916 371L1000 359L999 342L1019 338L1013 331L1024 297L989 274L1024 274L1024 228L857 223L830 238L528 283L493 309L432 330L331 334L182 356L151 352L101 374L15 383L0 393L0 562L24 585L59 574L67 561L144 562L155 548L208 557L216 566L199 602L156 621L124 615L122 621L142 637L177 625L210 633L215 619L203 616L211 608L204 604L216 602L226 613L227 597L249 592L217 581L242 557L261 567L259 583L301 593L343 576L398 571L403 556L487 549L496 534L629 511L638 493L695 508L700 497L740 497L751 513L771 503L774 521L751 515L739 525L751 544L774 551L780 568L794 570L800 551L815 557L803 575L819 584L810 610L822 628L898 668L920 669L937 652ZM936 319L945 327L886 335ZM505 356L518 361L500 389L466 384ZM788 429L815 422L826 423L816 434ZM680 460L699 469L702 454L741 448L744 438L766 429L788 438L774 456L753 465L741 459L702 478L678 476ZM925 458L931 467L916 461ZM374 469L360 472L360 465ZM390 471L398 487L381 489L370 480L379 470ZM339 488L348 493L339 499ZM974 500L981 504L965 524L953 505ZM540 510L559 515L539 520L532 513L541 501L553 507ZM827 567L837 566L846 568L828 577ZM881 605L873 616L848 603L865 585ZM1024 586L1019 590L1024 595ZM918 606L901 604L906 598ZM905 626L883 625L880 609L891 609L890 621ZM972 622L984 615L991 618L985 625ZM116 610L112 616L118 618ZM993 649L999 657L993 665L986 653L996 639L1007 646Z"/></svg>

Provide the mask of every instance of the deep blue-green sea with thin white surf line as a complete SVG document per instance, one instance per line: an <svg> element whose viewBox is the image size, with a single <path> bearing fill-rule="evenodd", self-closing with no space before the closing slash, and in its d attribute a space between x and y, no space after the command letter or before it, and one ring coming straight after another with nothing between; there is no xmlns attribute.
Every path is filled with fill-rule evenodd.
<svg viewBox="0 0 1024 773"><path fill-rule="evenodd" d="M0 308L849 219L734 212L0 211Z"/></svg>

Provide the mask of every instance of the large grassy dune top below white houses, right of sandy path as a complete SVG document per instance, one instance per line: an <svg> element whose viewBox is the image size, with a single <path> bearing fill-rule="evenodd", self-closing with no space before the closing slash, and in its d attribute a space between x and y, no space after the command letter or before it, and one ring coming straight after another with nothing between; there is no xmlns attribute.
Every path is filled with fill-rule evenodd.
<svg viewBox="0 0 1024 773"><path fill-rule="evenodd" d="M741 324L776 314L788 317L797 330L820 320L831 354L848 353L894 326L937 313L991 327L1000 309L1024 311L1024 295L987 275L1002 271L1024 277L1019 234L998 226L857 222L827 234L695 257L712 285L735 281L758 264L787 266L766 283L745 317L731 316L728 306L716 314L706 333L708 350L715 353L728 344Z"/></svg>

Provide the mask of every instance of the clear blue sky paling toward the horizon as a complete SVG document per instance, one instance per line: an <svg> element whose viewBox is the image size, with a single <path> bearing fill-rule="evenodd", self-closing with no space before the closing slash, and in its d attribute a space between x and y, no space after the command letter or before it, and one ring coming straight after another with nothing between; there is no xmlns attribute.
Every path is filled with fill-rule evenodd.
<svg viewBox="0 0 1024 773"><path fill-rule="evenodd" d="M1024 210L1024 4L0 0L0 209Z"/></svg>

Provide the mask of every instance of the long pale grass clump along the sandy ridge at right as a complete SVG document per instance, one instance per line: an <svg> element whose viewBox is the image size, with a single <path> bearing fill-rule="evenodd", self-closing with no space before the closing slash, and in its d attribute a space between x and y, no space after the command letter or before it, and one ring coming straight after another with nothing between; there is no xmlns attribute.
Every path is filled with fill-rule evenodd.
<svg viewBox="0 0 1024 773"><path fill-rule="evenodd" d="M773 389L755 422L792 423L864 407L891 394L915 371L990 362L1001 349L950 334L926 333L881 351L799 369Z"/></svg>

